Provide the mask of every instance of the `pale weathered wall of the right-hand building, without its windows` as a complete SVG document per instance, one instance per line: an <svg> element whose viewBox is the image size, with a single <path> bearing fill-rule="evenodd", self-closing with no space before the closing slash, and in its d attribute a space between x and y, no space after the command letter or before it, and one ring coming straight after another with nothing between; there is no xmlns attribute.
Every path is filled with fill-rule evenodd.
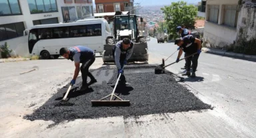
<svg viewBox="0 0 256 138"><path fill-rule="evenodd" d="M239 5L237 27L227 27L223 23L223 5ZM256 1L255 0L209 0L207 5L220 5L218 23L205 23L204 40L206 46L225 48L226 46L239 46L243 41L256 39ZM207 14L206 14L207 15ZM207 16L206 16L207 19ZM235 44L235 45L234 45Z"/></svg>

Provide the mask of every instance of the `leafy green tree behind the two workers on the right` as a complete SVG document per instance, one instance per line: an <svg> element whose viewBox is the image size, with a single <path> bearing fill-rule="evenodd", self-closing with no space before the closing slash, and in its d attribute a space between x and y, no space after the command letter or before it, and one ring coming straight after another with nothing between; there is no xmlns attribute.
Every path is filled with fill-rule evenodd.
<svg viewBox="0 0 256 138"><path fill-rule="evenodd" d="M197 7L187 5L185 1L171 3L170 6L161 8L165 14L167 31L172 38L177 37L176 28L185 25L187 29L195 29L195 18L197 17Z"/></svg>

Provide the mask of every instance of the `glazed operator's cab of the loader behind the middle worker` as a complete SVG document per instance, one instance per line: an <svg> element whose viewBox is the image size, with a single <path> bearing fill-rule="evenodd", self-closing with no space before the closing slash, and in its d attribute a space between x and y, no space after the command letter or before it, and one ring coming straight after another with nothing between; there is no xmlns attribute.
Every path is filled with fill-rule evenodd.
<svg viewBox="0 0 256 138"><path fill-rule="evenodd" d="M123 40L123 38L137 39L138 27L136 15L115 15L114 25L115 40Z"/></svg>

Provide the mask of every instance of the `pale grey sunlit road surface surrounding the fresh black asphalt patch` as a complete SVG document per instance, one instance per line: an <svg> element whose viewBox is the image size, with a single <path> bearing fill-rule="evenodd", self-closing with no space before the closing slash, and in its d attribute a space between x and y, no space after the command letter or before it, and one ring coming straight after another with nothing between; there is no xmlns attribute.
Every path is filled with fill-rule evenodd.
<svg viewBox="0 0 256 138"><path fill-rule="evenodd" d="M149 64L161 63L176 50L172 43L149 42ZM167 63L175 61L173 55ZM23 115L33 113L73 74L68 60L34 60L0 63L0 135L1 137L255 137L256 75L255 62L202 53L198 78L182 83L213 110L163 113L139 117L76 119L48 128L52 121L29 121ZM169 66L175 74L184 62ZM39 66L39 70L20 72ZM93 68L102 66L97 58Z"/></svg>

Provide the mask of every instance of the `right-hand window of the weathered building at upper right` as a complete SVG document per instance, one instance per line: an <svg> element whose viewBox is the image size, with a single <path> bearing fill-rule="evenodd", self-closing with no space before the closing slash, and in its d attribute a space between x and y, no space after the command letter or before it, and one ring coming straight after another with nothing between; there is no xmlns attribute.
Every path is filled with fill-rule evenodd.
<svg viewBox="0 0 256 138"><path fill-rule="evenodd" d="M225 5L223 25L227 25L229 27L237 27L238 10L239 9L237 5Z"/></svg>

